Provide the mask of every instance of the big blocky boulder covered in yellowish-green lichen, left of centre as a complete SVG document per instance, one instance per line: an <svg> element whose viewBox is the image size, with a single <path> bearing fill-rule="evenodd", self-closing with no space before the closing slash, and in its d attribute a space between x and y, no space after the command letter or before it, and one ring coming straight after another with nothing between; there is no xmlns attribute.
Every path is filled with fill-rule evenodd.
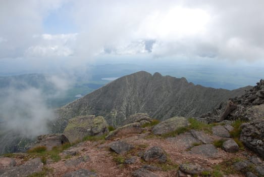
<svg viewBox="0 0 264 177"><path fill-rule="evenodd" d="M82 140L86 136L96 136L108 133L108 124L102 116L78 116L71 118L64 129L64 134L71 143Z"/></svg>

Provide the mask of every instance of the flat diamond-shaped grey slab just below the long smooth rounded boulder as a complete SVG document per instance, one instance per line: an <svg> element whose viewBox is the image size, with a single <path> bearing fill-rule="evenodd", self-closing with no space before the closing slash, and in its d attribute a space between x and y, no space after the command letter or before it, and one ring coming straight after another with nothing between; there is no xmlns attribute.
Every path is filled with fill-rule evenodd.
<svg viewBox="0 0 264 177"><path fill-rule="evenodd" d="M201 143L199 140L194 138L190 132L185 132L184 134L178 135L176 137L170 137L166 140L173 142L173 144L175 144L177 147L185 149L193 147L193 144Z"/></svg>

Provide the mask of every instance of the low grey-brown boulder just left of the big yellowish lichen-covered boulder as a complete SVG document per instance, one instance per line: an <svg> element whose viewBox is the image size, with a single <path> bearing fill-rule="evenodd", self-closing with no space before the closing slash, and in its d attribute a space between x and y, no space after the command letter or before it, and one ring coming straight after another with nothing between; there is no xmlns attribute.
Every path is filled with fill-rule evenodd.
<svg viewBox="0 0 264 177"><path fill-rule="evenodd" d="M70 143L64 134L48 134L40 135L33 144L33 148L37 146L45 146L47 150L51 150L55 146L61 146L65 143Z"/></svg>

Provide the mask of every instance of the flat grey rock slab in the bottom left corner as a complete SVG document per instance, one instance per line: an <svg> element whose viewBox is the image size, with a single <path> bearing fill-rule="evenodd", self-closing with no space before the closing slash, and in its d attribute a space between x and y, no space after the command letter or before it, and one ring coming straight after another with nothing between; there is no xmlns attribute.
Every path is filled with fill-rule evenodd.
<svg viewBox="0 0 264 177"><path fill-rule="evenodd" d="M42 171L43 163L40 158L34 158L23 165L11 167L6 169L0 176L1 177L26 177L34 172Z"/></svg>

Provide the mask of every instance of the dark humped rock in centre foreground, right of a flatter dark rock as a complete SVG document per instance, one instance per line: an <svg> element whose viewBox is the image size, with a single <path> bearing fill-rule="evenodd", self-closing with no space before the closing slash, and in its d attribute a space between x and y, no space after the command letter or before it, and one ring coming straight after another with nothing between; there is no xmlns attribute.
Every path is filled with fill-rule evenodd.
<svg viewBox="0 0 264 177"><path fill-rule="evenodd" d="M147 162L149 161L166 162L167 156L161 147L153 146L152 148L145 151L143 159Z"/></svg>

